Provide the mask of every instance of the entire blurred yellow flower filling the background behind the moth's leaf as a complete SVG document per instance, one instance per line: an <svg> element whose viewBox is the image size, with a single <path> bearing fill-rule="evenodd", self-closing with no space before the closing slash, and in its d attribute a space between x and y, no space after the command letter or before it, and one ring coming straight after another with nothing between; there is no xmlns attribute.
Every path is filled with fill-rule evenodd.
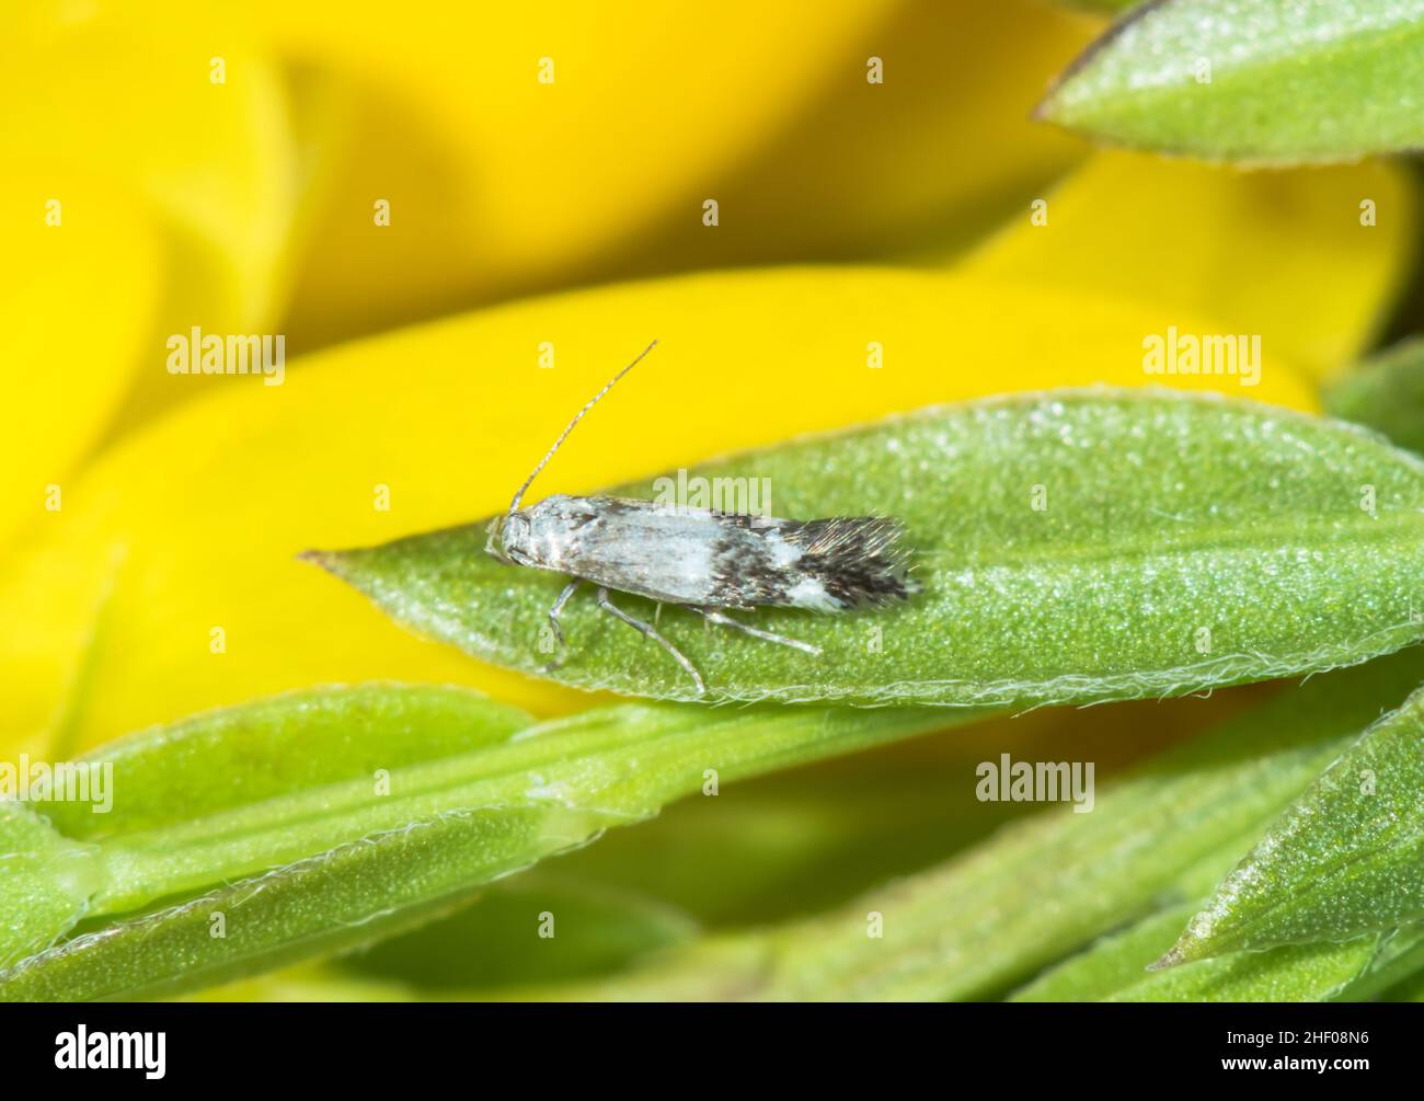
<svg viewBox="0 0 1424 1101"><path fill-rule="evenodd" d="M4 6L0 745L370 678L587 706L293 554L497 510L652 338L545 491L1017 389L1313 409L1404 285L1411 181L1030 121L1104 26L1047 0ZM1171 325L1263 335L1260 386L1145 375ZM281 336L281 385L171 373L194 328Z"/></svg>

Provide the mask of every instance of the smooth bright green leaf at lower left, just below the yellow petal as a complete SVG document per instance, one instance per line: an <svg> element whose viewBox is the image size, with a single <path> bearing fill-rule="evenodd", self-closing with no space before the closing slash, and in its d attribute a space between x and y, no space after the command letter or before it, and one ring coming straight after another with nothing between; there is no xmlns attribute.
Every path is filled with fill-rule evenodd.
<svg viewBox="0 0 1424 1101"><path fill-rule="evenodd" d="M457 688L362 685L215 711L125 738L84 761L114 765L114 808L47 810L100 842L91 916L266 872L446 808L461 763L528 726L515 708Z"/></svg>

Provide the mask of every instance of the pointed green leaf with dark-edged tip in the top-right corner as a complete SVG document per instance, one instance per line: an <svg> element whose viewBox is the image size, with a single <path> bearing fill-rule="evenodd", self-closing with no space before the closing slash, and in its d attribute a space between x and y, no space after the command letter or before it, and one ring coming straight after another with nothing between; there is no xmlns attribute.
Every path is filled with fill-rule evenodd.
<svg viewBox="0 0 1424 1101"><path fill-rule="evenodd" d="M1159 152L1350 161L1424 144L1421 87L1424 0L1162 0L1094 43L1040 115Z"/></svg>

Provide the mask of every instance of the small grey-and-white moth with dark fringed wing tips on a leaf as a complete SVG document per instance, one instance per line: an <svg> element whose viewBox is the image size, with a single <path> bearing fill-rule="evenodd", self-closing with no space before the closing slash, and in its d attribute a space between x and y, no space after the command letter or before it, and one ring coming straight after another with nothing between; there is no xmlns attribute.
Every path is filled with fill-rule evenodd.
<svg viewBox="0 0 1424 1101"><path fill-rule="evenodd" d="M520 486L508 511L487 528L486 551L496 560L572 578L548 610L560 658L545 671L557 668L567 652L560 615L585 581L597 587L602 611L668 651L692 678L698 695L706 684L686 655L654 624L614 604L609 593L648 597L659 608L675 604L719 627L819 657L819 647L752 627L726 611L843 612L881 608L917 591L909 577L904 526L891 517L780 520L631 497L565 494L521 508L525 491L574 426L656 345L648 345L574 414Z"/></svg>

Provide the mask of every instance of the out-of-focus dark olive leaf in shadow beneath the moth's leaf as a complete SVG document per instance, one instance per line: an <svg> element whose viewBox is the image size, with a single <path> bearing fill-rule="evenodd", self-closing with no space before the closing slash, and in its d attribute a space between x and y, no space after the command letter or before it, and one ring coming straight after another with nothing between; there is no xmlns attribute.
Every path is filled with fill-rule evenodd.
<svg viewBox="0 0 1424 1101"><path fill-rule="evenodd" d="M1267 688L1102 708L1044 708L738 785L721 799L685 799L656 822L608 835L560 859L568 875L646 892L708 929L768 926L842 906L899 876L951 859L1042 808L981 802L977 768L1007 752L1094 761L1114 775L1265 696ZM1232 853L1245 852L1255 836ZM1192 897L1203 897L1229 860Z"/></svg>

